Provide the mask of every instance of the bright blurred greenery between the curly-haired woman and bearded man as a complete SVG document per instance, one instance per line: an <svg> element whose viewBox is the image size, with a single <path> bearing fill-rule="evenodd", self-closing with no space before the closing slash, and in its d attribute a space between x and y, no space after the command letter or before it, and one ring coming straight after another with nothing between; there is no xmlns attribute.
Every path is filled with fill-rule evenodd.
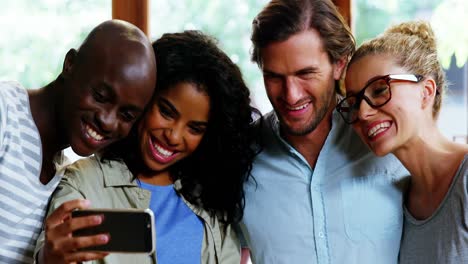
<svg viewBox="0 0 468 264"><path fill-rule="evenodd" d="M271 108L266 99L258 67L250 61L252 20L268 0L157 0L151 2L152 39L165 32L197 29L215 37L221 48L242 70L253 94L254 103L263 110Z"/></svg>

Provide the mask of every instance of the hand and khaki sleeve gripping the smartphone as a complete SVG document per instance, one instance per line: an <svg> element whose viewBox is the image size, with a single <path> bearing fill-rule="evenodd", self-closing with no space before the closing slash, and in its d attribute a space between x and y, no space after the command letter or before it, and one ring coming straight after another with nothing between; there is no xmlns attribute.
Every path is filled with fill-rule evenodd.
<svg viewBox="0 0 468 264"><path fill-rule="evenodd" d="M86 170L67 170L57 187L49 204L45 229L36 244L35 254L37 254L38 263L71 263L101 259L107 255L77 250L105 244L108 241L107 235L72 236L73 231L98 225L102 221L101 216L71 218L71 212L74 209L84 209L90 205L90 201L85 200L80 192L79 184L74 181L75 178L86 176L94 177L95 175L90 175Z"/></svg>

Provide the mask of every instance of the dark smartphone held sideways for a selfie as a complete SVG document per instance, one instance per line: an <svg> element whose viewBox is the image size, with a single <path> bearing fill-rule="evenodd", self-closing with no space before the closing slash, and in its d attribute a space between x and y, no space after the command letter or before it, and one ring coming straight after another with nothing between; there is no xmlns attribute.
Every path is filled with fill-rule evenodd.
<svg viewBox="0 0 468 264"><path fill-rule="evenodd" d="M151 254L155 248L154 215L150 209L85 209L75 210L72 217L103 215L98 226L79 229L73 236L109 234L105 245L82 248L82 251Z"/></svg>

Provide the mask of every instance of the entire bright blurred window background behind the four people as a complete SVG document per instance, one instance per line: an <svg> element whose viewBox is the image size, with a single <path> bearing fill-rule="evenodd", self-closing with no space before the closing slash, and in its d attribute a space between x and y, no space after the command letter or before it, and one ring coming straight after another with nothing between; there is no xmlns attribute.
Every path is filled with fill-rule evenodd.
<svg viewBox="0 0 468 264"><path fill-rule="evenodd" d="M0 0L0 80L16 80L28 89L40 88L51 82L60 73L66 52L77 48L94 26L116 17L115 5L123 1ZM185 29L199 29L214 36L240 66L255 106L263 113L271 110L261 72L249 59L250 26L254 16L268 1L127 2L132 5L144 3L145 31L152 40L165 32ZM422 19L432 24L439 41L440 59L450 81L439 126L449 138L468 143L468 30L465 29L468 25L468 16L465 15L468 14L468 1L335 2L340 2L340 11L350 19L358 44L401 21ZM121 5L120 9L130 7Z"/></svg>

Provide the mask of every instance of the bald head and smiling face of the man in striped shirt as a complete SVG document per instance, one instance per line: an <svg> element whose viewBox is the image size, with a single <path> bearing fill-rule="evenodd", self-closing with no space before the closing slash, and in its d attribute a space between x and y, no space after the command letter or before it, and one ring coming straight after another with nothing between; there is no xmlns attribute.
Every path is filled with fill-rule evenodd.
<svg viewBox="0 0 468 264"><path fill-rule="evenodd" d="M57 82L64 93L59 111L62 142L78 155L91 155L127 136L154 91L156 65L149 41L112 30L115 27L107 25L79 52L70 50L63 82Z"/></svg>

